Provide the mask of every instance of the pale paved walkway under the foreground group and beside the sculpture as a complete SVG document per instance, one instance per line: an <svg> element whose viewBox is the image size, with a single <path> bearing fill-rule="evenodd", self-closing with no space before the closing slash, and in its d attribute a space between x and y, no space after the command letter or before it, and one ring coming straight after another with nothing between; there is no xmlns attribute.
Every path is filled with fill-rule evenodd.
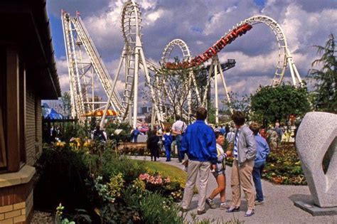
<svg viewBox="0 0 337 224"><path fill-rule="evenodd" d="M149 157L138 156L133 159L146 159ZM166 162L165 158L160 158L159 162L177 166L182 169L182 165L177 163L177 159L172 159L170 162ZM226 176L226 199L230 201L231 199L231 189L230 189L230 172L231 167L227 166ZM198 182L197 182L198 183ZM198 185L197 185L198 186ZM217 183L213 176L210 176L210 181L208 182L207 195L216 188ZM240 212L237 213L225 213L225 210L220 210L220 208L209 209L206 205L206 213L203 215L198 215L198 220L203 219L223 219L225 221L232 218L237 218L240 221L245 221L245 223L336 223L337 215L333 216L312 216L310 213L306 213L301 208L294 206L294 201L311 201L311 195L308 186L285 186L285 185L274 185L268 181L262 180L262 188L265 196L264 206L256 206L255 215L251 217L245 217L245 211L247 210L247 203L245 202L244 194L242 192L242 203ZM217 205L220 204L220 196L214 199ZM198 194L193 196L190 210L188 211L187 219L191 220L191 213L197 211L198 205Z"/></svg>

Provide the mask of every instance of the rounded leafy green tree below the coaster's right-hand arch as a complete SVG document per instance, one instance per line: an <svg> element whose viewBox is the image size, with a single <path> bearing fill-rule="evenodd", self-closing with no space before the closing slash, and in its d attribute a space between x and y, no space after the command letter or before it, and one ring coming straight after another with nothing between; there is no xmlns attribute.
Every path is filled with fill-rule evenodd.
<svg viewBox="0 0 337 224"><path fill-rule="evenodd" d="M310 110L306 86L260 87L250 100L252 119L264 125L277 120L288 123L290 114L302 117Z"/></svg>

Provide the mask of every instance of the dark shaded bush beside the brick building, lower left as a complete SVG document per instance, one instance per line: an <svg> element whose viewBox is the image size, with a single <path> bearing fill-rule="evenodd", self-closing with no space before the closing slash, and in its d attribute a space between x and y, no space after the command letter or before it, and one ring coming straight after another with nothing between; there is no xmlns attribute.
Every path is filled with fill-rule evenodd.
<svg viewBox="0 0 337 224"><path fill-rule="evenodd" d="M36 208L53 210L60 202L70 210L89 206L85 188L88 169L83 154L72 151L69 146L43 149L36 171Z"/></svg>

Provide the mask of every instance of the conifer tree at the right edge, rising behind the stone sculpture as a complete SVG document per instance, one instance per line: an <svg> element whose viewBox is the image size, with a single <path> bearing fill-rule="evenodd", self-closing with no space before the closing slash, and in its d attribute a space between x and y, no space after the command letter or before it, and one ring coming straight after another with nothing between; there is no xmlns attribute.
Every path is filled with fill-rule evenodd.
<svg viewBox="0 0 337 224"><path fill-rule="evenodd" d="M308 77L315 80L314 107L315 110L337 112L337 60L336 41L331 33L325 46L315 46L321 58L311 64ZM320 66L320 69L314 68Z"/></svg>

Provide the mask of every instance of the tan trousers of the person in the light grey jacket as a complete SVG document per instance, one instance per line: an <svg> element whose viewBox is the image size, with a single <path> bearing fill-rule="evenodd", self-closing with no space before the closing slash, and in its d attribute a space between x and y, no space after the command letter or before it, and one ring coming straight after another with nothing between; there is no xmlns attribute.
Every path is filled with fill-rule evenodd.
<svg viewBox="0 0 337 224"><path fill-rule="evenodd" d="M248 209L255 209L255 193L253 191L252 169L254 160L245 161L239 166L237 159L233 161L230 186L232 187L232 206L240 206L241 189L245 193Z"/></svg>

